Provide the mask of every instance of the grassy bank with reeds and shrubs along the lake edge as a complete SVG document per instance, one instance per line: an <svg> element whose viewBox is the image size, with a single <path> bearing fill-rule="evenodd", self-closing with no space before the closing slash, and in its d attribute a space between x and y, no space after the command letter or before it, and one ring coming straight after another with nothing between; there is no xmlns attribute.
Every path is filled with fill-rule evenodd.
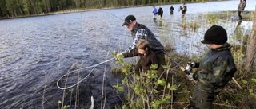
<svg viewBox="0 0 256 109"><path fill-rule="evenodd" d="M253 12L250 11L246 11L242 14L244 21L251 21L252 15ZM204 18L206 20L206 24L199 24L197 21L184 21L183 23L185 23L186 26L184 26L183 23L181 26L183 27L182 29L194 29L196 33L196 29L202 28L204 25L218 24L219 21L230 23L232 22L232 17L234 17L234 20L237 20L235 19L237 16L237 11L202 14L199 15L199 18ZM168 25L166 25L166 29L166 31L163 31L169 32ZM244 65L246 64L245 42L248 40L248 36L250 36L250 34L244 32L245 30L246 29L243 29L243 27L240 27L235 31L233 34L234 36L230 36L235 37L234 41L239 42L238 44L232 45L233 48L231 49L238 71L234 75L234 80L230 80L226 85L226 88L224 88L224 90L221 91L221 93L214 99L214 109L256 108L256 91L254 90L256 87L256 65L254 64L251 72L245 73L246 69L244 69ZM152 107L179 109L189 105L189 99L192 95L195 83L186 79L186 74L178 68L178 64L185 66L187 62L190 62L191 60L200 61L202 56L187 56L177 53L171 43L171 39L167 39L165 36L166 35L162 35L161 38L165 40L164 45L168 45L166 46L166 49L169 49L169 56L166 56L167 65L165 66L166 72L169 74L169 79L161 80L159 77L155 76L154 70L150 72L150 75L143 74L142 76L135 76L130 70L130 67L133 66L133 64L126 63L124 61L118 63L122 64L118 70L117 68L113 68L113 73L115 75L121 74L124 79L121 84L115 85L114 87L117 88L117 90L124 89L122 87L127 87L129 89L129 91L127 91L128 95L126 100L124 100L124 108L146 109L148 107ZM198 46L198 48L200 49L200 46ZM172 59L170 59L170 57ZM142 80L146 80L147 82ZM156 82L153 82L153 86L152 84L149 84L150 80L151 82L152 80L156 80ZM168 91L168 95L159 96L158 87L155 86L162 86L170 89L170 91ZM239 86L242 88L239 88Z"/></svg>

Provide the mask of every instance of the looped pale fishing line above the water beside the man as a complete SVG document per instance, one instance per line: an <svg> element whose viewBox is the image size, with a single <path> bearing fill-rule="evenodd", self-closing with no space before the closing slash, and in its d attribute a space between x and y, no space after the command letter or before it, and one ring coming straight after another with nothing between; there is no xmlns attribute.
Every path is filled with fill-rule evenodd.
<svg viewBox="0 0 256 109"><path fill-rule="evenodd" d="M94 69L95 69L98 65L104 64L104 63L109 62L109 61L114 60L114 59L115 59L115 58L111 58L110 60L105 60L105 61L103 61L103 62L101 62L101 63L99 63L99 64L94 64L94 65L92 65L92 66L85 67L85 68L79 68L79 69L76 69L76 70L74 70L74 71L72 71L72 72L76 72L76 71L78 71L78 70L87 69L87 68L93 68L93 69L90 71L90 73L89 73L86 77L82 78L82 80L85 80L88 76L90 76L90 74L94 71ZM74 86L76 86L76 85L78 85L78 84L80 84L80 83L82 82L82 80L79 80L76 84L73 84L73 85L71 85L71 86L69 86L69 87L65 87L65 88L62 88L62 87L60 87L60 86L58 85L58 82L59 82L60 80L62 80L63 77L69 75L69 74L72 73L72 72L66 73L65 75L61 76L61 77L57 80L57 87L58 87L59 89L66 90L66 89L69 89L69 88L73 88Z"/></svg>

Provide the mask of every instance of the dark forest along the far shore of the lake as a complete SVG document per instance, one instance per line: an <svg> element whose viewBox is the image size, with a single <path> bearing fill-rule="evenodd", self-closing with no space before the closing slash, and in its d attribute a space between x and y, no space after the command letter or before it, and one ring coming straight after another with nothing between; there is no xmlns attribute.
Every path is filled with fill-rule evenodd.
<svg viewBox="0 0 256 109"><path fill-rule="evenodd" d="M149 6L182 2L205 2L205 0L0 0L0 18L48 14L74 9Z"/></svg>

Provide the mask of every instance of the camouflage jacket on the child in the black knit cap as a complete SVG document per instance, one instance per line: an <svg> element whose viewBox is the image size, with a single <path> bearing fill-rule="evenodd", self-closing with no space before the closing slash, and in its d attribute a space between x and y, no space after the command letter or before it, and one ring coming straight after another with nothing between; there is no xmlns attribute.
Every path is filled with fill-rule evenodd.
<svg viewBox="0 0 256 109"><path fill-rule="evenodd" d="M198 80L199 90L218 93L232 79L237 68L230 48L231 46L226 43L221 48L210 49L202 59L198 71L193 75L194 80Z"/></svg>

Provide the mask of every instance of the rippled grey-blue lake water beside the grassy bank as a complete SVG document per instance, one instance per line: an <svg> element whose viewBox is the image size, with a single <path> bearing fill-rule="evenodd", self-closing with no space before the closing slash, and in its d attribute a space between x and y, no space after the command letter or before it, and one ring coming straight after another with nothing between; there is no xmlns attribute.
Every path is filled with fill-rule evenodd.
<svg viewBox="0 0 256 109"><path fill-rule="evenodd" d="M248 1L246 10L254 10L255 2ZM162 6L164 17L157 22L152 19L152 6L0 20L0 108L55 105L62 97L56 80L66 74L72 64L78 63L80 68L98 64L112 58L110 53L130 46L130 32L122 27L121 20L128 14L134 14L137 21L156 33L163 44L174 45L179 53L198 54L206 48L200 41L210 25L203 25L204 20L195 19L196 15L237 10L238 3L236 0L187 4L186 21L197 20L202 24L196 32L182 29L178 12L181 4L173 5L172 16L170 5ZM231 36L237 23L226 20L219 25ZM250 30L251 23L243 21L241 26ZM102 69L95 70L94 76L102 75ZM84 76L86 74L81 74L81 78ZM101 83L94 85L102 86Z"/></svg>

